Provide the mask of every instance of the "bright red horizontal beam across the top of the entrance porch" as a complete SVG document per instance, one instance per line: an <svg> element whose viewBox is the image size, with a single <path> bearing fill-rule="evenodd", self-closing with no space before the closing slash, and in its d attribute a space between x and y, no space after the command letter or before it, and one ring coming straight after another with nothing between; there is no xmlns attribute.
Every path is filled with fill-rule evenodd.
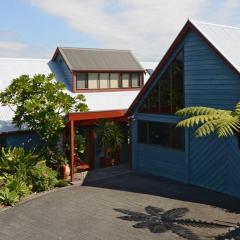
<svg viewBox="0 0 240 240"><path fill-rule="evenodd" d="M101 118L124 118L125 110L109 110L98 112L80 112L69 113L67 115L68 121L83 121L83 120L97 120Z"/></svg>

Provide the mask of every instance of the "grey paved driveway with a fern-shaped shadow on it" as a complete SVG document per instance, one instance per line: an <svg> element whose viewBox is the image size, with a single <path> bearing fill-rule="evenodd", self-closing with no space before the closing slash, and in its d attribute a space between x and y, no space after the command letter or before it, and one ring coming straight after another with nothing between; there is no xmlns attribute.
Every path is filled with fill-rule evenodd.
<svg viewBox="0 0 240 240"><path fill-rule="evenodd" d="M0 212L0 239L214 239L240 222L239 203L129 173L57 190Z"/></svg>

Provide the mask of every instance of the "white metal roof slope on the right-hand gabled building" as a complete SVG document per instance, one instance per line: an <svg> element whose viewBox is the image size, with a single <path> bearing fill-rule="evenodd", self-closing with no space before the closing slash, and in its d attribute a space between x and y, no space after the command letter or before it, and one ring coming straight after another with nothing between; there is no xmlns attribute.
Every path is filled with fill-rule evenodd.
<svg viewBox="0 0 240 240"><path fill-rule="evenodd" d="M240 72L240 28L189 21Z"/></svg>

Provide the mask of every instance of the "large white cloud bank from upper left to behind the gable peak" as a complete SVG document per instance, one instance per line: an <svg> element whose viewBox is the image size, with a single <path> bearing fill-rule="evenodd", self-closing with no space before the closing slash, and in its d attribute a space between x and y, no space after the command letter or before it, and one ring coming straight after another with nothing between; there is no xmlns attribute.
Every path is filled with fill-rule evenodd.
<svg viewBox="0 0 240 240"><path fill-rule="evenodd" d="M193 18L233 24L239 0L27 0L63 18L105 48L131 49L141 60L159 60Z"/></svg>

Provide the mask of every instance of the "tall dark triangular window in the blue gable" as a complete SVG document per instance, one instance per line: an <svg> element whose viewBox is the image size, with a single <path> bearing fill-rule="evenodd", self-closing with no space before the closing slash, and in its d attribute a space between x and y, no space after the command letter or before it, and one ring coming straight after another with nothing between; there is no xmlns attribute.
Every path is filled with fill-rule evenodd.
<svg viewBox="0 0 240 240"><path fill-rule="evenodd" d="M176 56L143 102L144 113L174 114L184 107L183 50Z"/></svg>

